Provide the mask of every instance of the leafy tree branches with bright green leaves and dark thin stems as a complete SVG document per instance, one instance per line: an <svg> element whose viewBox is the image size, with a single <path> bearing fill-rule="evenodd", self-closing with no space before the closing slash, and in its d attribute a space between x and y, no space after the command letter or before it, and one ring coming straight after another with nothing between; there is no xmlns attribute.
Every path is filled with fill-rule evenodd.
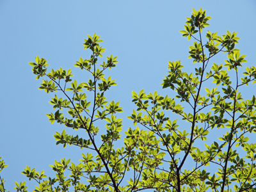
<svg viewBox="0 0 256 192"><path fill-rule="evenodd" d="M65 96L52 97L50 103L58 110L47 114L51 124L57 122L66 129L86 132L83 138L67 134L65 129L54 135L57 145L86 150L81 163L74 164L70 159L55 161L51 167L56 177L48 179L44 171L24 168L22 174L38 183L34 191L256 191L256 144L248 143L248 134L256 132L256 102L254 95L252 99L243 99L240 92L241 86L256 82L256 68L246 67L241 72L246 60L235 49L237 33L227 31L226 35L218 36L207 31L206 41L203 40L203 29L211 19L205 10L193 9L187 19L185 30L180 33L195 40L189 47L189 58L197 63L195 72L182 71L180 61L168 62L168 76L161 85L174 90L175 98L157 92L146 94L144 90L132 92L136 110L128 118L140 127L125 132L124 146L120 148L114 147L122 131L122 120L116 112L123 111L119 102L106 100L105 93L116 83L103 73L116 67L118 61L111 55L98 64L105 50L99 45L100 36L88 35L84 49L90 49L92 56L80 58L74 65L92 75L87 83L72 80L70 69L52 69L47 73L44 58L37 56L35 63L29 62L36 79L48 79L42 80L40 90ZM220 52L227 54L225 65L213 63L210 67L209 61ZM211 90L206 84L210 79L214 86ZM92 94L90 102L83 91ZM186 126L178 128L178 119L166 115L169 111ZM105 127L97 127L101 120L106 121ZM227 132L222 135L220 130L218 140L208 145L206 140L212 137L213 129ZM246 156L241 156L242 152ZM6 167L3 160L0 166L1 170ZM218 171L212 172L214 168ZM65 176L65 172L70 175ZM6 191L4 180L0 179L0 191ZM15 184L17 191L27 191L26 182Z"/></svg>

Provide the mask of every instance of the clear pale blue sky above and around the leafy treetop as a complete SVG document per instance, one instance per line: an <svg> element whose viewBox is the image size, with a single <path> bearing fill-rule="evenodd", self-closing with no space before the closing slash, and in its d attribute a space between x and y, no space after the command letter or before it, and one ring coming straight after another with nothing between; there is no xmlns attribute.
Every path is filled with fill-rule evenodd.
<svg viewBox="0 0 256 192"><path fill-rule="evenodd" d="M179 33L184 29L186 17L192 8L203 8L211 16L207 30L218 35L236 31L241 38L237 48L246 54L246 65L255 65L256 1L13 1L0 0L0 63L1 63L1 111L0 156L8 164L1 172L5 187L13 191L14 181L26 180L29 191L35 182L28 182L20 174L26 165L45 170L52 176L49 164L63 157L78 163L81 152L76 147L63 149L56 146L52 137L63 127L48 121L46 113L52 112L48 103L53 94L38 90L42 79L35 80L29 61L35 56L44 57L49 68L72 68L77 81L83 81L81 72L73 65L79 57L88 58L90 51L83 49L87 34L100 35L106 48L104 58L118 56L118 66L108 72L118 86L108 93L108 100L120 101L124 113L124 129L132 127L127 120L134 109L132 90L146 92L157 90L172 96L170 90L162 90L160 84L167 75L168 61L181 60L191 69L188 59L187 38ZM224 63L225 56L212 60ZM190 65L190 66L189 66ZM245 65L244 65L245 66ZM255 90L245 90L250 95Z"/></svg>

